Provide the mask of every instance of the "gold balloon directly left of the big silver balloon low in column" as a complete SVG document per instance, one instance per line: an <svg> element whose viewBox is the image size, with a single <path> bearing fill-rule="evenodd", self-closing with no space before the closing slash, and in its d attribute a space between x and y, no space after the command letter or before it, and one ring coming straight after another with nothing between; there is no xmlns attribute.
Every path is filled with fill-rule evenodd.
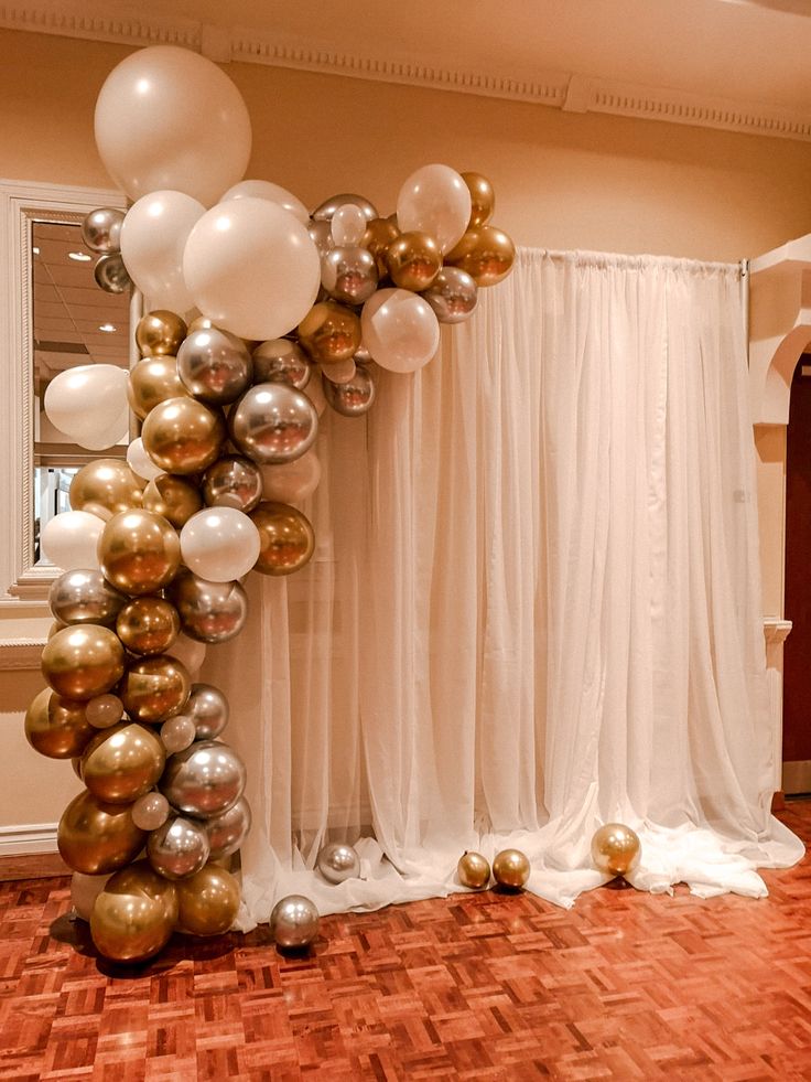
<svg viewBox="0 0 811 1082"><path fill-rule="evenodd" d="M82 780L108 804L130 804L163 773L166 751L151 729L121 721L98 732L82 757Z"/></svg>

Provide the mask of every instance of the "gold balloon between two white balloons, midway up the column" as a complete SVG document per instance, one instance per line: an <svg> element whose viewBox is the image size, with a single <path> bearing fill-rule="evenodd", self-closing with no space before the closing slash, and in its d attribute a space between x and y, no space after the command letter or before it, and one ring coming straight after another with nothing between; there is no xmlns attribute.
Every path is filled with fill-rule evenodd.
<svg viewBox="0 0 811 1082"><path fill-rule="evenodd" d="M169 522L137 508L110 518L98 542L108 582L125 593L154 593L167 586L181 563L181 543Z"/></svg>

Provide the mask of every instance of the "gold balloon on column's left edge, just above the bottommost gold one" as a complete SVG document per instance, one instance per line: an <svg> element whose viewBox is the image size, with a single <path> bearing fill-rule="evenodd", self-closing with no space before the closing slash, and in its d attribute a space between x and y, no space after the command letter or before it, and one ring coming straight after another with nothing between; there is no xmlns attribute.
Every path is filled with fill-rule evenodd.
<svg viewBox="0 0 811 1082"><path fill-rule="evenodd" d="M147 840L132 822L129 804L107 804L85 790L60 819L56 844L74 871L101 876L129 864Z"/></svg>

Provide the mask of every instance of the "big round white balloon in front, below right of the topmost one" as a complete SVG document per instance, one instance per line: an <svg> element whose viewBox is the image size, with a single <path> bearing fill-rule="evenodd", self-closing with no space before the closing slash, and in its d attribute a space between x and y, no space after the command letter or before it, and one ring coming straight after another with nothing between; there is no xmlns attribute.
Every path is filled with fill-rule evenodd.
<svg viewBox="0 0 811 1082"><path fill-rule="evenodd" d="M207 211L192 229L183 275L217 326L264 342L296 326L321 286L321 260L301 222L250 196Z"/></svg>

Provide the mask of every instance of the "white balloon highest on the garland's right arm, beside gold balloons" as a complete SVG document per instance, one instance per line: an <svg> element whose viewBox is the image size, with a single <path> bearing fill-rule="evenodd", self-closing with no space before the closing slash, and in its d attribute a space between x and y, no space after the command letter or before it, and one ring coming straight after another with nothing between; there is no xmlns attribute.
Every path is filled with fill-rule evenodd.
<svg viewBox="0 0 811 1082"><path fill-rule="evenodd" d="M423 165L397 196L397 224L403 233L429 233L443 251L461 239L471 221L471 190L450 165Z"/></svg>

